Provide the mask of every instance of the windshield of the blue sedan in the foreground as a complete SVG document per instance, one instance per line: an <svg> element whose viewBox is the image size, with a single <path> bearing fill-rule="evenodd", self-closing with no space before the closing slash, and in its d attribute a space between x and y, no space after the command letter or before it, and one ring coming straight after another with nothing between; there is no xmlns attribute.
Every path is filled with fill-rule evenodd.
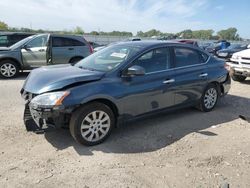
<svg viewBox="0 0 250 188"><path fill-rule="evenodd" d="M83 69L108 72L122 64L139 50L140 47L114 45L88 56L75 66Z"/></svg>

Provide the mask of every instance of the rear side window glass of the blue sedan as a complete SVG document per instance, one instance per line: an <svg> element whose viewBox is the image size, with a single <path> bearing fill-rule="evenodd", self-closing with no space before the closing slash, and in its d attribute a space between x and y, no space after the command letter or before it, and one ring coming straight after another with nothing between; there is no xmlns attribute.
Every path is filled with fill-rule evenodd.
<svg viewBox="0 0 250 188"><path fill-rule="evenodd" d="M201 55L198 51L192 50L190 48L176 47L174 48L174 53L175 67L201 64L204 63L208 58L206 54Z"/></svg>

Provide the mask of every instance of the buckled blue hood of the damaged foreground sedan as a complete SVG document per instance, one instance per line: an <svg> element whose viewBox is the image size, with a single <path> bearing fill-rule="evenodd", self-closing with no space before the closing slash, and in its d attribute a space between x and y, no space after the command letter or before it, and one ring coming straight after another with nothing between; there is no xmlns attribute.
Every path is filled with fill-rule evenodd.
<svg viewBox="0 0 250 188"><path fill-rule="evenodd" d="M103 72L90 71L71 65L41 67L31 71L23 89L33 94L41 94L62 89L71 84L96 81L103 75Z"/></svg>

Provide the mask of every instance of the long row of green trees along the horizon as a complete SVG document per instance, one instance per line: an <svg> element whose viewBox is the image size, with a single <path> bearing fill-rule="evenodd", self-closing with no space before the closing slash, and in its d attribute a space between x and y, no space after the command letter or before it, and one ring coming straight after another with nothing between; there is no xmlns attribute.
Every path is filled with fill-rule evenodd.
<svg viewBox="0 0 250 188"><path fill-rule="evenodd" d="M48 31L43 29L30 29L30 28L16 28L9 27L8 24L0 21L0 31L11 31L11 32L29 32L29 33L59 33L59 34L91 34L91 35L111 35L111 36L126 36L132 37L132 32L127 31L91 31L90 33L85 33L84 30L77 26L72 30L63 30L63 31ZM136 34L137 37L162 37L163 39L176 39L176 38L185 38L185 39L203 39L203 40L241 40L239 34L237 33L237 29L234 27L224 29L214 32L212 29L208 30L183 30L178 33L164 33L156 29L151 29L149 31L143 32L138 31Z"/></svg>

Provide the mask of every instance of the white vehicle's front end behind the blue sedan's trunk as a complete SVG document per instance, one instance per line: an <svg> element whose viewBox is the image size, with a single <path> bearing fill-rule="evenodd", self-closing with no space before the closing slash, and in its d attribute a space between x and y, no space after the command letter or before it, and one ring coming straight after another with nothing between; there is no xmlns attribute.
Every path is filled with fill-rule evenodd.
<svg viewBox="0 0 250 188"><path fill-rule="evenodd" d="M250 49L234 53L227 65L230 67L232 79L243 82L250 77Z"/></svg>

